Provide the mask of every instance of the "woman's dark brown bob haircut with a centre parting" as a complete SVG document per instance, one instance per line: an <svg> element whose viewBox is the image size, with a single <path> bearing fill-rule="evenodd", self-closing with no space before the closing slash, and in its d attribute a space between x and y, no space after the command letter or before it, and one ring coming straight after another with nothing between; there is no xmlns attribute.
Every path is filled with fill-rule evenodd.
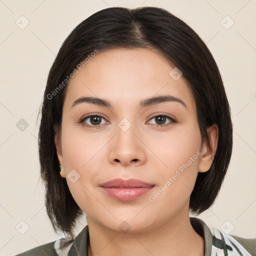
<svg viewBox="0 0 256 256"><path fill-rule="evenodd" d="M202 141L206 128L219 129L215 157L206 172L198 172L190 195L189 210L199 214L218 195L232 152L232 122L217 64L205 43L185 22L158 7L134 9L110 7L97 11L67 36L49 70L41 106L38 133L40 175L45 185L45 206L55 231L74 239L76 219L82 210L74 201L66 180L59 175L54 135L60 135L62 107L69 74L93 52L111 48L147 48L159 51L178 67L196 103ZM62 86L61 86L62 85Z"/></svg>

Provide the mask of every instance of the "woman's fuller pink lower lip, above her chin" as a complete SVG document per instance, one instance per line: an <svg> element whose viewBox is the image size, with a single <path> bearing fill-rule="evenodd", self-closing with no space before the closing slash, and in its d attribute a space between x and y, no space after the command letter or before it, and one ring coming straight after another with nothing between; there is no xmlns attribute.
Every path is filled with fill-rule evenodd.
<svg viewBox="0 0 256 256"><path fill-rule="evenodd" d="M149 192L150 187L102 187L103 191L111 198L119 201L131 201Z"/></svg>

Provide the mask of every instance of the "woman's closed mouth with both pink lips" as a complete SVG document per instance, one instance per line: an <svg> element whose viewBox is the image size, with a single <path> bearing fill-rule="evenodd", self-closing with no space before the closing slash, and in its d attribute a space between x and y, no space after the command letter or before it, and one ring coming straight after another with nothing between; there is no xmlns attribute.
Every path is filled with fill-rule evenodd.
<svg viewBox="0 0 256 256"><path fill-rule="evenodd" d="M139 179L130 178L127 180L115 178L100 185L103 192L119 201L131 201L148 193L154 184Z"/></svg>

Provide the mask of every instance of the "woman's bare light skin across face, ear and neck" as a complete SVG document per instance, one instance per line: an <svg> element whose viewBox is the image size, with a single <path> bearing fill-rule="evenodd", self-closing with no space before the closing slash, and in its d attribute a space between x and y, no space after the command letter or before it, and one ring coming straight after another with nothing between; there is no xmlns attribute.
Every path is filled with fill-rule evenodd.
<svg viewBox="0 0 256 256"><path fill-rule="evenodd" d="M97 53L68 85L55 145L63 166L61 176L86 213L88 255L204 254L204 239L190 224L188 205L198 171L207 171L212 163L218 129L216 125L208 128L209 145L201 140L195 101L184 78L174 80L169 75L173 67L156 50L115 48ZM175 96L186 107L168 101L139 108L142 99L160 95ZM112 107L88 102L72 107L81 96L107 99ZM79 123L95 113L103 116L96 123L99 127ZM157 114L176 122L168 118L157 122L152 118ZM118 126L123 118L131 124L125 132ZM90 120L83 123L93 126ZM150 202L148 197L197 151L200 156ZM74 183L67 177L72 169L80 175ZM155 186L135 200L118 201L99 187L117 177ZM126 233L118 228L123 221L130 226Z"/></svg>

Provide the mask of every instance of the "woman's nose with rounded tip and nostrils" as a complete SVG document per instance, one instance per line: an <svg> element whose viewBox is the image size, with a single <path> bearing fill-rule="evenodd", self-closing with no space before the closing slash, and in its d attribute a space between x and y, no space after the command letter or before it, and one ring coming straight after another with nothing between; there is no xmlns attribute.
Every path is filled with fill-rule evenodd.
<svg viewBox="0 0 256 256"><path fill-rule="evenodd" d="M131 124L127 130L123 129L121 124L117 125L115 135L109 141L109 161L122 166L128 166L130 164L140 165L144 163L146 159L146 147L140 137L135 125Z"/></svg>

